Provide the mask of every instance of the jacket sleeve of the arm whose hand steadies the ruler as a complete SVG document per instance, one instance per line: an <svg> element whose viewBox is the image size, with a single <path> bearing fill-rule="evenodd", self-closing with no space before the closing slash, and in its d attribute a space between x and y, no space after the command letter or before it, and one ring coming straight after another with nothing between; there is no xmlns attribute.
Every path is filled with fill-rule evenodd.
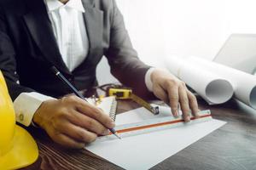
<svg viewBox="0 0 256 170"><path fill-rule="evenodd" d="M142 97L149 93L145 84L145 75L150 66L145 65L137 57L137 52L131 45L128 32L125 29L123 16L113 0L110 45L105 56L111 68L111 73L125 86L133 88L133 92Z"/></svg>

